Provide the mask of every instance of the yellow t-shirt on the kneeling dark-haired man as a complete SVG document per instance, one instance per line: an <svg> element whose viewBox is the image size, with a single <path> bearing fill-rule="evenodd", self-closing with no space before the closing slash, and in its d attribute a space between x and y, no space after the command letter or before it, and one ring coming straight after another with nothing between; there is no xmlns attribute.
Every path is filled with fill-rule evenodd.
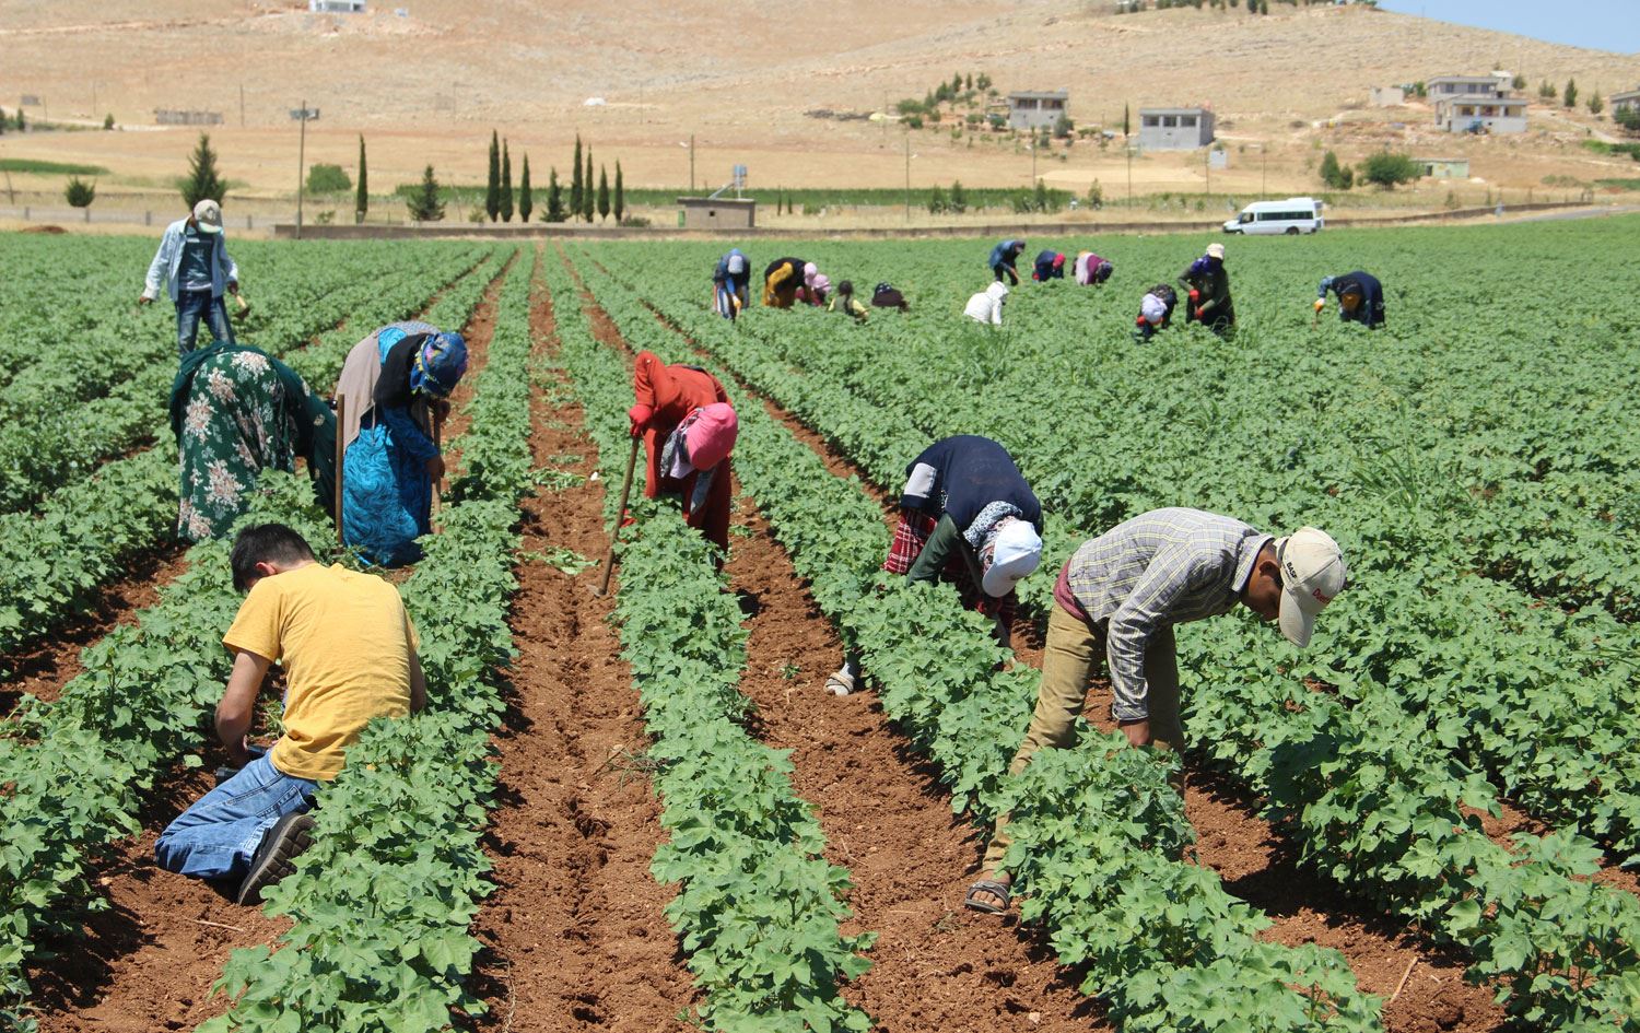
<svg viewBox="0 0 1640 1033"><path fill-rule="evenodd" d="M284 664L285 735L269 761L294 779L335 779L371 718L410 713L415 626L372 574L315 562L264 577L221 641Z"/></svg>

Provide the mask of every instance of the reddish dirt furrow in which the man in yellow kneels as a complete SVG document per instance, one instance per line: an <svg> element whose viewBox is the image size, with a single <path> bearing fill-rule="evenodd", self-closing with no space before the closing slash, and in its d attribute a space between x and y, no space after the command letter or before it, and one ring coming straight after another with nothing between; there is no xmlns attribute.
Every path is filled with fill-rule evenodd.
<svg viewBox="0 0 1640 1033"><path fill-rule="evenodd" d="M471 367L482 369L495 323L495 285L466 326ZM180 562L180 561L179 561ZM267 690L264 689L264 699ZM289 922L238 907L213 887L154 864L154 840L210 785L225 762L203 743L203 766L177 764L143 802L141 833L95 862L93 885L110 905L85 922L84 940L48 944L61 954L31 974L44 1033L190 1028L221 1012L210 985L235 948L272 943Z"/></svg>

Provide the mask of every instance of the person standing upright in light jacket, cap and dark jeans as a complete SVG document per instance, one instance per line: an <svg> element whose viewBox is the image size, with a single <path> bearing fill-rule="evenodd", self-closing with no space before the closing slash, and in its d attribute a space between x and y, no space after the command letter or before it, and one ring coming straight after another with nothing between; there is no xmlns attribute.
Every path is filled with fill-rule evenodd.
<svg viewBox="0 0 1640 1033"><path fill-rule="evenodd" d="M221 231L221 205L203 198L194 213L166 226L159 251L148 264L148 282L138 305L159 297L161 280L177 305L177 356L194 351L200 333L200 316L210 328L212 341L231 341L228 307L223 292L239 294L239 266L228 257L228 241Z"/></svg>

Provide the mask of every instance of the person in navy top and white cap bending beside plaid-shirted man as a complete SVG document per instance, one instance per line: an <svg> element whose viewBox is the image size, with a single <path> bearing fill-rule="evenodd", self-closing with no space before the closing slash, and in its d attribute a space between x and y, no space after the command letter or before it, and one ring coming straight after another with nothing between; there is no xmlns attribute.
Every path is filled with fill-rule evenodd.
<svg viewBox="0 0 1640 1033"><path fill-rule="evenodd" d="M997 621L997 641L1007 644L1018 608L1014 587L1040 562L1041 503L1005 448L959 435L935 441L905 467L884 571L913 584L943 576L966 608ZM851 656L825 687L848 695L858 679Z"/></svg>

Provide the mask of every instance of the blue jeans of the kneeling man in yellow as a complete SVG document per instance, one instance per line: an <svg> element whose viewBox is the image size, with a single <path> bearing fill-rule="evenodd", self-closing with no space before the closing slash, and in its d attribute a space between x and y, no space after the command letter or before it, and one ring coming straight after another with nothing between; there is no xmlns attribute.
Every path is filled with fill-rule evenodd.
<svg viewBox="0 0 1640 1033"><path fill-rule="evenodd" d="M313 803L318 782L280 774L262 754L200 797L159 833L154 859L194 879L244 879L262 835Z"/></svg>

